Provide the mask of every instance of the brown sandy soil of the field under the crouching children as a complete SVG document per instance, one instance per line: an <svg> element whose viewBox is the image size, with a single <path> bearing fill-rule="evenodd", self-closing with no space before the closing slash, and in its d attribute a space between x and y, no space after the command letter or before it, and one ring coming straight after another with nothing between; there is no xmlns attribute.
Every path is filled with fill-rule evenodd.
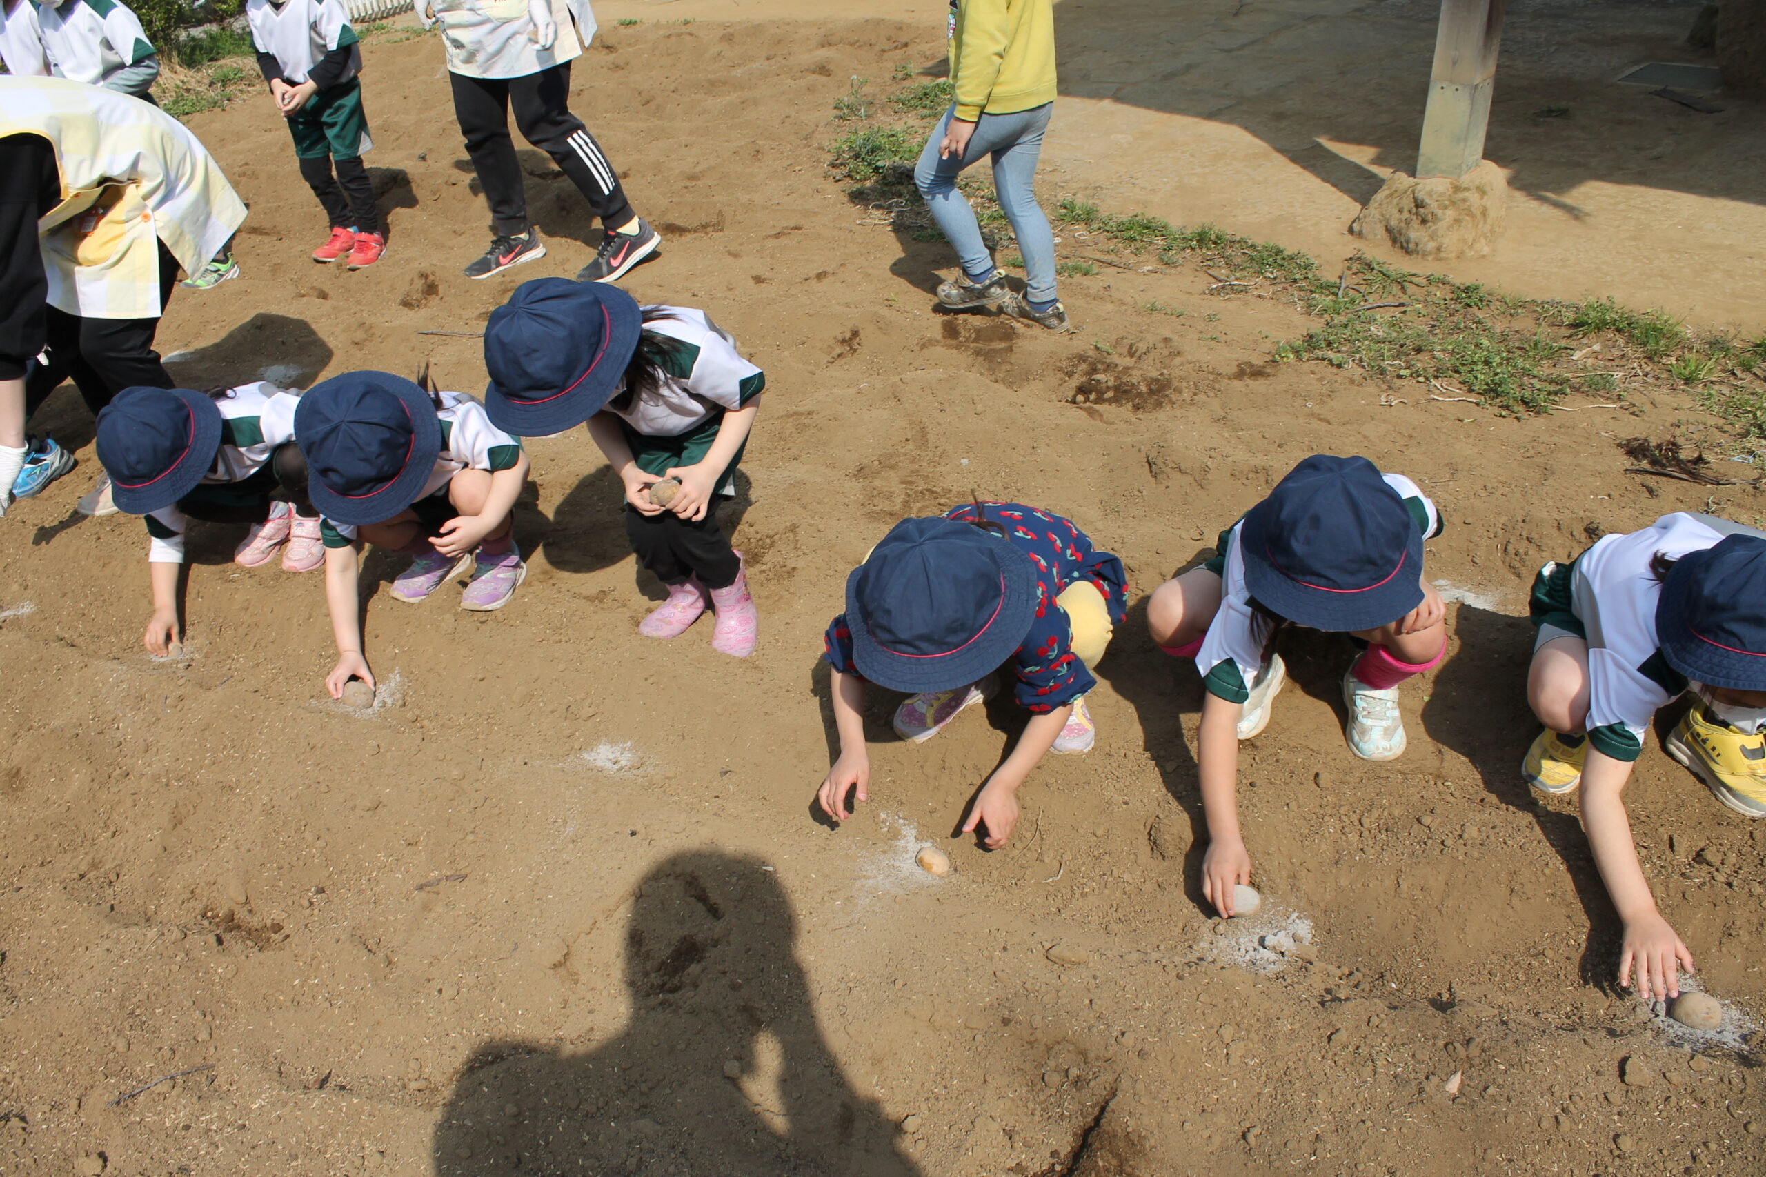
<svg viewBox="0 0 1766 1177"><path fill-rule="evenodd" d="M83 468L0 528L0 1172L1761 1172L1766 833L1646 750L1641 854L1727 1009L1694 1036L1611 985L1574 801L1517 773L1533 570L1667 510L1766 514L1757 491L1623 473L1616 441L1688 402L1385 404L1268 362L1298 312L1206 296L1189 266L1068 281L1074 335L938 316L947 247L862 224L825 169L848 78L936 60L936 11L660 9L608 5L576 102L668 238L630 289L708 309L768 372L726 515L756 656L703 625L634 632L657 584L577 432L532 443L509 609L403 605L397 565L367 561L373 711L323 699L318 579L233 566L238 529L192 531L189 660L155 663L147 536L74 512L90 420L58 394L46 424ZM267 101L194 120L251 219L245 275L164 323L192 386L424 360L482 386L475 339L419 335L480 330L514 286L459 275L486 212L440 49L367 49L392 229L371 270L306 259L323 224ZM579 198L523 159L553 252L517 275L574 274ZM952 831L1010 706L911 746L879 692L871 805L814 821L821 632L895 519L971 492L1060 510L1139 602L1321 450L1436 498L1453 641L1406 685L1411 746L1385 766L1340 736L1347 644L1286 644L1294 685L1241 768L1256 918L1197 895L1201 692L1141 603L1100 667L1097 748L1035 773L1007 849ZM925 843L954 873L913 865Z"/></svg>

